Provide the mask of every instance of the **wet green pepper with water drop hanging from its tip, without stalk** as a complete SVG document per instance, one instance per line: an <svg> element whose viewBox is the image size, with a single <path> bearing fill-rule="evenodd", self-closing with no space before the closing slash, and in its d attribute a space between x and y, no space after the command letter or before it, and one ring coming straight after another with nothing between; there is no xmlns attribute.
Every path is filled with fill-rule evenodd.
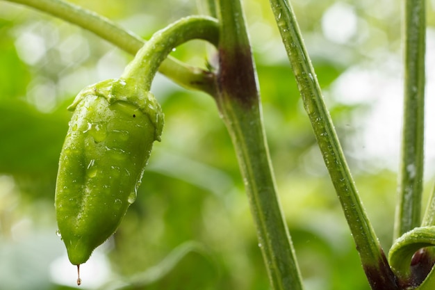
<svg viewBox="0 0 435 290"><path fill-rule="evenodd" d="M56 218L69 261L79 265L120 225L136 200L163 113L151 92L108 80L82 90L62 152Z"/></svg>

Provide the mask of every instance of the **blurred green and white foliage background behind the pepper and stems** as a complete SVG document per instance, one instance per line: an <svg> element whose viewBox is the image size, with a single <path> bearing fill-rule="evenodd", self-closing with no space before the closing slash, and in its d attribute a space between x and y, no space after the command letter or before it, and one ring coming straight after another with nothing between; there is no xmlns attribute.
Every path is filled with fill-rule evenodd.
<svg viewBox="0 0 435 290"><path fill-rule="evenodd" d="M84 1L149 38L195 1ZM402 7L393 0L293 0L356 186L391 245L402 123ZM368 290L352 236L266 0L244 1L279 195L306 290ZM435 106L435 1L427 1L427 110ZM206 66L202 42L173 56ZM71 113L132 56L88 31L0 1L0 289L74 289L56 236L54 188ZM236 156L213 99L158 74L165 129L120 228L81 266L81 289L269 289ZM425 197L435 172L427 111ZM423 208L425 205L423 205ZM124 288L123 288L124 287Z"/></svg>

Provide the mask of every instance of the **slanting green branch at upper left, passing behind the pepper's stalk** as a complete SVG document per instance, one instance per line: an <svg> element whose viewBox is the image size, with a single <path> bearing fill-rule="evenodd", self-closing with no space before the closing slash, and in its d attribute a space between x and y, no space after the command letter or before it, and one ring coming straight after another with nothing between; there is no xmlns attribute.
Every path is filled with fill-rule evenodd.
<svg viewBox="0 0 435 290"><path fill-rule="evenodd" d="M99 37L120 47L120 49L129 54L135 55L145 44L145 41L138 35L120 28L109 19L63 0L6 1L21 3L81 26L83 29L99 35ZM213 42L217 45L217 39ZM215 95L214 76L198 67L190 67L177 61L175 58L169 57L163 61L159 71L180 86L202 90L210 95Z"/></svg>

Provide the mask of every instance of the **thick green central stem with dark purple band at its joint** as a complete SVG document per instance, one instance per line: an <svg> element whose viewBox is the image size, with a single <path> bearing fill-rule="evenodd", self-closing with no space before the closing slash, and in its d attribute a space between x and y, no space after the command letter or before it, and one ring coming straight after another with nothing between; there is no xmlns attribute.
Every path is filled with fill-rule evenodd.
<svg viewBox="0 0 435 290"><path fill-rule="evenodd" d="M217 106L236 149L258 245L272 289L301 290L302 279L281 211L265 141L243 10L238 0L217 0L220 69Z"/></svg>

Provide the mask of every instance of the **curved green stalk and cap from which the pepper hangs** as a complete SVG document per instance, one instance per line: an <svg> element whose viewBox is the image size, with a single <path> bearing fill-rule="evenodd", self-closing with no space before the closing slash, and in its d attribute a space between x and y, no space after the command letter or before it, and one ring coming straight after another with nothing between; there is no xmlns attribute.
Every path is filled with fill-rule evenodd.
<svg viewBox="0 0 435 290"><path fill-rule="evenodd" d="M216 19L207 16L190 16L179 19L154 33L149 42L139 49L133 61L126 66L120 79L101 82L102 88L91 87L92 92L105 91L109 102L124 101L136 104L148 115L156 128L156 140L163 129L163 114L160 105L150 92L151 83L161 63L175 47L192 39L213 42L219 38ZM85 93L83 92L83 94ZM75 103L76 101L74 101ZM80 99L77 101L80 102ZM74 106L74 104L72 105Z"/></svg>

